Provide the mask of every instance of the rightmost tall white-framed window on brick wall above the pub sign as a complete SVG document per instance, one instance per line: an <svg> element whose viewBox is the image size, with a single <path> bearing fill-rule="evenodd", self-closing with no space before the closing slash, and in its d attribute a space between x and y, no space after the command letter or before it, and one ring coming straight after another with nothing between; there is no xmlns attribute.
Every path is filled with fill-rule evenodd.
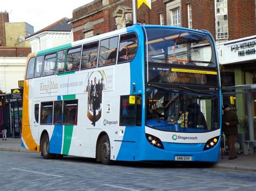
<svg viewBox="0 0 256 191"><path fill-rule="evenodd" d="M227 0L215 0L216 39L228 38Z"/></svg>

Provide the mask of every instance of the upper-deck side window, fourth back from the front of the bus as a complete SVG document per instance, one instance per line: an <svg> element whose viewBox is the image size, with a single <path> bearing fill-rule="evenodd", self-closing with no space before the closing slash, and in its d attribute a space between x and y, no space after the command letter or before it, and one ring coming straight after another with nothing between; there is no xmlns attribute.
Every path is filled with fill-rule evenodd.
<svg viewBox="0 0 256 191"><path fill-rule="evenodd" d="M68 50L66 55L66 72L79 70L81 59L81 47Z"/></svg>

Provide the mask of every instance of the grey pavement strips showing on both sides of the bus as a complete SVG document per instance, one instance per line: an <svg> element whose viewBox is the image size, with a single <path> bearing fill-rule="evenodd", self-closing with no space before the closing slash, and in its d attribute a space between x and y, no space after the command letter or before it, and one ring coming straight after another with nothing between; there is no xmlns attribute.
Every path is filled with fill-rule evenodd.
<svg viewBox="0 0 256 191"><path fill-rule="evenodd" d="M20 138L7 138L7 140L0 139L0 151L14 151L14 152L31 152L21 146ZM234 171L256 172L256 154L244 155L238 154L238 158L228 160L228 155L220 155L217 164L213 168L229 169Z"/></svg>

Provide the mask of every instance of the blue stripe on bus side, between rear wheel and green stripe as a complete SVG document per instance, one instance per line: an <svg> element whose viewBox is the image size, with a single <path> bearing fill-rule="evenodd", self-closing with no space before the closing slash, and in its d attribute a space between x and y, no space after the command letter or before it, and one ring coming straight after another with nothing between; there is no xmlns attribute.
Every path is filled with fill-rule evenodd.
<svg viewBox="0 0 256 191"><path fill-rule="evenodd" d="M57 96L57 100L62 100L61 96ZM54 125L53 133L50 140L50 153L61 154L62 152L63 125Z"/></svg>

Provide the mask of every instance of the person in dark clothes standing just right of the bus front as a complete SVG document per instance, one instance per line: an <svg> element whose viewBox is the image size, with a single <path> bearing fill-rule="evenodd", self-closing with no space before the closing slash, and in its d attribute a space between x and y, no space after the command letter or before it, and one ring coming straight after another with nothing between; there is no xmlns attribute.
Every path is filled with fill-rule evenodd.
<svg viewBox="0 0 256 191"><path fill-rule="evenodd" d="M230 109L230 107L227 104L223 105L223 131L227 139L227 146L228 151L230 152L230 157L228 157L229 160L237 158L237 155L235 155L235 142L237 140L237 134L238 134L238 117L237 114Z"/></svg>

